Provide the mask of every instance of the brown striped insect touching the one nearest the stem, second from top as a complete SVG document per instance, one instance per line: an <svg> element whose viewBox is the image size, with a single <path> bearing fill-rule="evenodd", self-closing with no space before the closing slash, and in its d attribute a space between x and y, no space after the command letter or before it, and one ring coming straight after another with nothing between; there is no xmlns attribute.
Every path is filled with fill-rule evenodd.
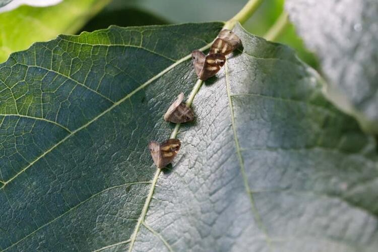
<svg viewBox="0 0 378 252"><path fill-rule="evenodd" d="M226 62L226 57L223 54L214 53L205 55L200 50L194 50L192 58L196 74L203 81L216 75Z"/></svg>

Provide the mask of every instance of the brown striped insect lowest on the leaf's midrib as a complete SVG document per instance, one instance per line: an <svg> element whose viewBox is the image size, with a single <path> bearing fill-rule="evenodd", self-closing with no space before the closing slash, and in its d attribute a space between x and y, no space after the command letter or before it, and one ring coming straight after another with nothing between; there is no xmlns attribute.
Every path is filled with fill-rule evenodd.
<svg viewBox="0 0 378 252"><path fill-rule="evenodd" d="M172 162L173 158L180 150L180 147L180 140L174 138L168 139L161 144L155 141L151 141L148 144L152 159L158 168L164 168L167 164Z"/></svg>

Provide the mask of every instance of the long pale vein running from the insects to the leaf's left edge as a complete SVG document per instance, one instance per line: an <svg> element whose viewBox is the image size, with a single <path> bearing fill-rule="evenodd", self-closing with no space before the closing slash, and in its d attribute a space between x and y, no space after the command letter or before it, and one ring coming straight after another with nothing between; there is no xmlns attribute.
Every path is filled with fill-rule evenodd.
<svg viewBox="0 0 378 252"><path fill-rule="evenodd" d="M206 49L210 48L210 45L211 44L205 45L204 47L201 48L201 50L206 50ZM79 131L87 128L88 125L92 124L98 118L102 117L103 115L105 115L106 113L108 113L109 111L111 111L112 109L114 109L115 107L117 107L119 104L123 103L125 100L129 99L130 97L132 97L135 93L137 93L138 91L144 89L149 84L151 84L153 81L155 81L156 79L160 78L165 73L169 72L171 69L175 68L177 65L181 64L182 62L186 61L187 59L190 59L191 57L192 57L192 55L189 54L189 55L186 55L185 57L181 58L180 60L177 60L174 64L170 65L169 67L167 67L166 69L164 69L163 71L161 71L159 74L155 75L154 77L152 77L151 79L149 79L148 81L146 81L145 83L143 83L141 86L139 86L138 88L134 89L127 96L125 96L122 99L120 99L119 101L115 102L108 109L106 109L103 112L101 112L99 115L97 115L96 117L94 117L92 120L88 121L87 123L85 123L84 125L82 125L80 128L78 128L75 131L71 132L71 134L67 135L64 139L60 140L58 143L56 143L55 145L53 145L50 149L48 149L47 151L45 151L44 153L42 153L39 157L37 157L29 165L27 165L25 168L23 168L22 170L20 170L16 175L14 175L12 178L10 178L8 181L6 181L5 184L2 187L0 187L0 189L4 188L8 183L10 183L12 180L14 180L16 177L18 177L20 174L22 174L27 169L29 169L31 166L33 166L33 164L35 164L38 160L40 160L41 158L43 158L46 154L50 153L52 150L54 150L60 144L66 142L67 139L69 139L70 137L74 136Z"/></svg>

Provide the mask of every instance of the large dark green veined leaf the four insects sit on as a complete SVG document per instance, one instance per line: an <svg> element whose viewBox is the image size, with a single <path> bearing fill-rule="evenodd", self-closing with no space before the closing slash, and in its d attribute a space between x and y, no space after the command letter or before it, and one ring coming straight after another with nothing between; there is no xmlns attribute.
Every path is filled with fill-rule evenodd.
<svg viewBox="0 0 378 252"><path fill-rule="evenodd" d="M0 65L1 249L376 249L373 139L291 49L240 27L156 173L147 143L169 137L162 116L196 82L188 54L221 27L61 35Z"/></svg>

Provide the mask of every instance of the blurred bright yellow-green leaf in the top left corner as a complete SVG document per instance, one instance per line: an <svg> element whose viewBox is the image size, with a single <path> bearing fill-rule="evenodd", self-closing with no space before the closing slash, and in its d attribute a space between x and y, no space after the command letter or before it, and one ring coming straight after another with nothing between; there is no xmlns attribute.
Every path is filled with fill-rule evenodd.
<svg viewBox="0 0 378 252"><path fill-rule="evenodd" d="M21 6L1 13L0 62L12 52L24 50L36 41L46 41L61 33L75 34L109 1L66 0L46 8Z"/></svg>

